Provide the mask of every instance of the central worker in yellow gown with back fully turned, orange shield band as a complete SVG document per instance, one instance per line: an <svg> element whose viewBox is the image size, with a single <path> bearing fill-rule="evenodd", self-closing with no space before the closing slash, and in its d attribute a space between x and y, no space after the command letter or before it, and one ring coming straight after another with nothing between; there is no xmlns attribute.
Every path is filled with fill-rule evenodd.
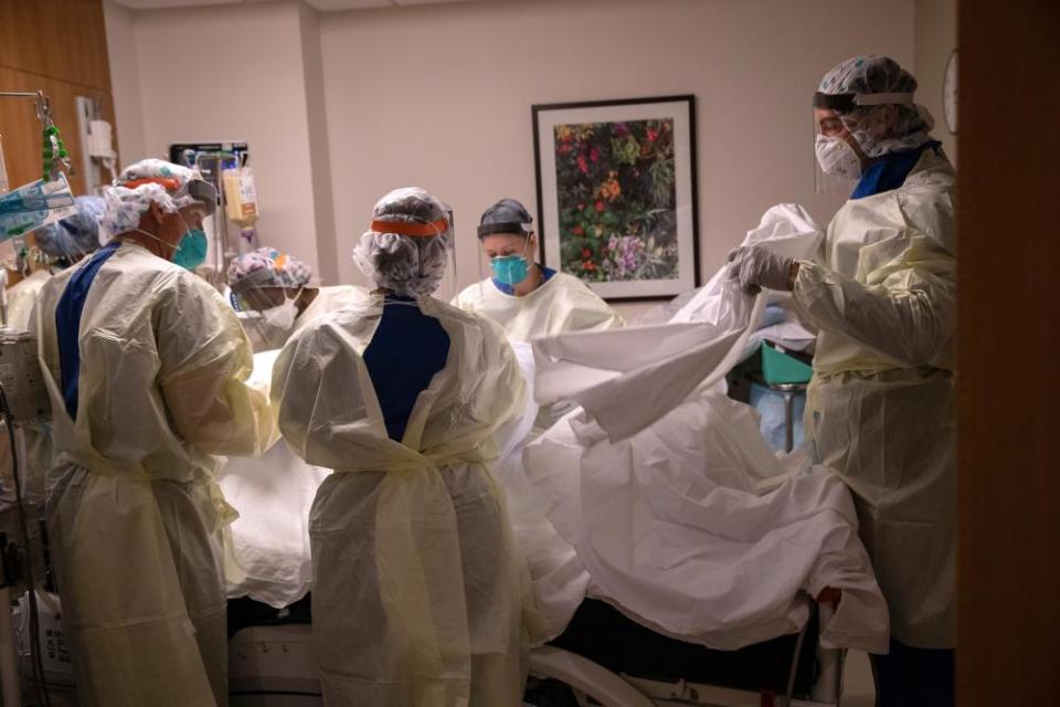
<svg viewBox="0 0 1060 707"><path fill-rule="evenodd" d="M373 296L274 368L284 437L333 469L309 517L329 707L521 704L532 600L490 463L527 389L499 326L431 296L452 247L434 197L383 197L354 251Z"/></svg>

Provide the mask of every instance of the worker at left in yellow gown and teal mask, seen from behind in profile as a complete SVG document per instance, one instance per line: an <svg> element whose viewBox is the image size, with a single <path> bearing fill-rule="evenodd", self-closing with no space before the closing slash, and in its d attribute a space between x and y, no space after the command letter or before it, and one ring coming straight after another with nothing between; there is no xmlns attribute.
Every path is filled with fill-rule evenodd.
<svg viewBox="0 0 1060 707"><path fill-rule="evenodd" d="M216 194L150 159L105 199L114 239L52 277L34 328L60 455L46 502L82 705L226 705L215 454L272 436L232 308L190 272Z"/></svg>

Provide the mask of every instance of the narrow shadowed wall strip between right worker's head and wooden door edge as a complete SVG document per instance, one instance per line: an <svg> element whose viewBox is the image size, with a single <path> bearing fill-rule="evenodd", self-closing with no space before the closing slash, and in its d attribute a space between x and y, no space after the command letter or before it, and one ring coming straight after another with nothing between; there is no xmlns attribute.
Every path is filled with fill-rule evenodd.
<svg viewBox="0 0 1060 707"><path fill-rule="evenodd" d="M946 129L942 85L950 53L957 46L957 0L916 0L915 27L916 101L935 117L933 135L956 163L957 138Z"/></svg>

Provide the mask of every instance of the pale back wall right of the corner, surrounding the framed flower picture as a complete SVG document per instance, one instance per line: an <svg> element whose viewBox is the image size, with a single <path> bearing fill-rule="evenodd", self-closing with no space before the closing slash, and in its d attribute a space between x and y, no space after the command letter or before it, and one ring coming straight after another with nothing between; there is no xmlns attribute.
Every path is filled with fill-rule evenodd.
<svg viewBox="0 0 1060 707"><path fill-rule="evenodd" d="M462 284L475 225L516 197L534 210L530 106L692 93L701 262L709 276L770 205L823 223L810 95L851 55L911 65L912 0L569 0L324 14L328 139L343 281L375 198L418 184L456 210ZM536 210L534 210L536 213Z"/></svg>

